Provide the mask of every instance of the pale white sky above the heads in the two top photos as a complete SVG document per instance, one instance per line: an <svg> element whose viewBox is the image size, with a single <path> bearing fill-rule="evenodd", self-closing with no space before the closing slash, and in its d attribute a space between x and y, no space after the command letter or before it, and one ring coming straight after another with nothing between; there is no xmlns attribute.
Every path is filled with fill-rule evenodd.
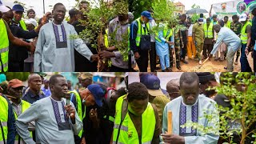
<svg viewBox="0 0 256 144"><path fill-rule="evenodd" d="M6 6L14 6L15 0L2 0L2 3ZM76 2L75 0L44 0L46 6L46 12L51 11L50 6L54 6L55 3L62 2L66 6L66 10L72 9ZM87 0L90 1L90 0ZM182 2L185 5L185 10L190 10L191 6L195 3L200 6L202 9L210 10L210 5L219 2L228 2L230 0L174 0L174 2ZM33 8L36 12L36 17L41 18L43 15L43 0L18 0L26 4L28 9ZM214 12L214 11L213 11Z"/></svg>

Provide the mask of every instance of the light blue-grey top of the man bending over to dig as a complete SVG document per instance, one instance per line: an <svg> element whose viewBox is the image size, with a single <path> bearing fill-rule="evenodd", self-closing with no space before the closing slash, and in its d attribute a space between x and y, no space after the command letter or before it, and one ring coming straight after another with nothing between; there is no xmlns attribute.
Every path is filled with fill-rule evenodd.
<svg viewBox="0 0 256 144"><path fill-rule="evenodd" d="M226 27L222 27L218 32L217 42L214 45L213 50L210 54L215 54L220 46L224 42L227 45L227 49L237 51L241 47L241 40L237 34L234 34L232 30Z"/></svg>

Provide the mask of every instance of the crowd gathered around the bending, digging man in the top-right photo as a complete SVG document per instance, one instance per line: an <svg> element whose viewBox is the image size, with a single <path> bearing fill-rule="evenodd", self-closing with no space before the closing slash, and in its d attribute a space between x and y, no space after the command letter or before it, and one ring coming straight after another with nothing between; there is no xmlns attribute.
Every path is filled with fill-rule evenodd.
<svg viewBox="0 0 256 144"><path fill-rule="evenodd" d="M227 71L234 71L233 63L238 65L239 60L241 71L251 72L252 68L247 59L250 52L254 58L255 71L256 5L250 6L249 13L233 15L232 18L212 15L211 10L212 6L209 18L205 19L200 14L200 18L194 22L186 14L179 15L180 27L162 23L160 19L155 22L152 16L154 10L143 11L141 17L130 25L130 50L139 71L148 71L149 59L151 72L158 71L158 61L162 71L172 71L174 63L178 70L182 70L181 62L187 65L194 59L202 65L203 60L214 55L214 61L226 60L227 66L224 69ZM155 34L150 33L156 26L164 28ZM135 66L136 64L131 70Z"/></svg>

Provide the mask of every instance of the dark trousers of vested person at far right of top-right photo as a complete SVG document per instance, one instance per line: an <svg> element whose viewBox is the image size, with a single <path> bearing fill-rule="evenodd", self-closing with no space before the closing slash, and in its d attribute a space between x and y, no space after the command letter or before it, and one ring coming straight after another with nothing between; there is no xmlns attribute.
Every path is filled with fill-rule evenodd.
<svg viewBox="0 0 256 144"><path fill-rule="evenodd" d="M247 56L246 56L245 50L246 50L246 44L242 44L241 58L240 58L241 71L242 72L251 72L251 68L250 68L249 62L247 60Z"/></svg>

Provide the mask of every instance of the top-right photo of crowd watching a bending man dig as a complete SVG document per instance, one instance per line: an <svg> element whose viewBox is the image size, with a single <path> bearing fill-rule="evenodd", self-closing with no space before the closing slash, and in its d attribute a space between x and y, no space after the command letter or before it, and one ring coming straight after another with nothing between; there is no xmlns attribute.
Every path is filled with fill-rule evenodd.
<svg viewBox="0 0 256 144"><path fill-rule="evenodd" d="M252 0L131 1L131 71L255 71L255 8Z"/></svg>

